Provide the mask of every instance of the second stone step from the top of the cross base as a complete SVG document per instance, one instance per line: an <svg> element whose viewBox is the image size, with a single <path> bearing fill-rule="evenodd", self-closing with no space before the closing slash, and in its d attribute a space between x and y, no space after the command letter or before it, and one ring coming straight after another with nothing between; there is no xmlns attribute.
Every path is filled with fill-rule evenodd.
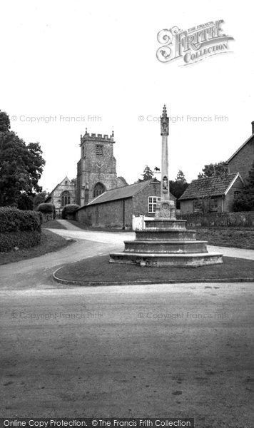
<svg viewBox="0 0 254 428"><path fill-rule="evenodd" d="M195 240L195 230L137 230L136 239L138 240Z"/></svg>

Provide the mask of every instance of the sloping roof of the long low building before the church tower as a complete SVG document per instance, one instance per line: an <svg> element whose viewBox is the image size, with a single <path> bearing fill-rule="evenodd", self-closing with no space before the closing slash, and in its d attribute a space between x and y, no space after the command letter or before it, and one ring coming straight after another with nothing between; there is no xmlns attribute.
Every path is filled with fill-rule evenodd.
<svg viewBox="0 0 254 428"><path fill-rule="evenodd" d="M146 188L146 186L150 183L161 184L161 182L158 181L156 178L150 178L149 180L141 181L140 183L134 183L130 185L125 185L121 188L107 190L106 192L97 196L97 198L91 200L88 205L96 205L98 203L109 202L111 200L132 198L132 196L136 195L136 193L138 193L140 190L143 190L143 188ZM173 200L176 200L173 195L171 195L171 198Z"/></svg>

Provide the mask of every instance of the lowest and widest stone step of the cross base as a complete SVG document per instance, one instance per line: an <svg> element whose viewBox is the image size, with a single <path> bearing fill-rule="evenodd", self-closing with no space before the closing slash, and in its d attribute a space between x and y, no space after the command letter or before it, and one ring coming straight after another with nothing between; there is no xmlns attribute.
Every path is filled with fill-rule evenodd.
<svg viewBox="0 0 254 428"><path fill-rule="evenodd" d="M124 263L151 267L198 267L223 263L222 254L147 254L147 253L114 253L110 254L110 263Z"/></svg>

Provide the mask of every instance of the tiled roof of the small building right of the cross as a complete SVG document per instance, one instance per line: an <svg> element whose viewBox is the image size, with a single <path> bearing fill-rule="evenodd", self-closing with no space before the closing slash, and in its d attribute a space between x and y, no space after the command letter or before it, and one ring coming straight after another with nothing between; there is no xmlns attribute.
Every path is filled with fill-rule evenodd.
<svg viewBox="0 0 254 428"><path fill-rule="evenodd" d="M238 174L223 174L220 177L193 180L179 199L186 200L224 195L236 175Z"/></svg>

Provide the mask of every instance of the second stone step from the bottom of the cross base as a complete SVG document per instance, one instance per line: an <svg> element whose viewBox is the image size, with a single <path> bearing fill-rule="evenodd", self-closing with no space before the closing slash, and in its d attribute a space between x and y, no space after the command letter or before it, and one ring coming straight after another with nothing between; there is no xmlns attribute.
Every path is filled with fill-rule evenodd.
<svg viewBox="0 0 254 428"><path fill-rule="evenodd" d="M130 240L124 241L124 253L186 254L207 253L207 241L198 240Z"/></svg>

